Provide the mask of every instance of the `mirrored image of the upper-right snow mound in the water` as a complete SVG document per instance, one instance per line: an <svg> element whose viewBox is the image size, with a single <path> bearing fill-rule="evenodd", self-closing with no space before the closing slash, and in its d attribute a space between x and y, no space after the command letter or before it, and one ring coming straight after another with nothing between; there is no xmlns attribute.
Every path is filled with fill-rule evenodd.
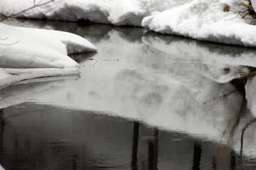
<svg viewBox="0 0 256 170"><path fill-rule="evenodd" d="M248 73L246 66L256 66L255 49L214 43L205 45L205 42L180 41L177 36L156 34L143 36L142 40L150 47L174 56L177 63L195 63L200 72L216 82L229 82L240 77L241 73Z"/></svg>

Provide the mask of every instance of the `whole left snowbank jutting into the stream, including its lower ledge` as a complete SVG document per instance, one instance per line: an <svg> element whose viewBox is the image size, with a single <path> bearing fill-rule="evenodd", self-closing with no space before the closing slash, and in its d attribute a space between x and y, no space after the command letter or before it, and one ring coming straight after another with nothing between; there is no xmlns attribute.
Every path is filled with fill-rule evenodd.
<svg viewBox="0 0 256 170"><path fill-rule="evenodd" d="M68 54L95 52L81 36L0 23L0 89L28 79L79 74L79 65ZM20 68L20 69L18 69Z"/></svg>

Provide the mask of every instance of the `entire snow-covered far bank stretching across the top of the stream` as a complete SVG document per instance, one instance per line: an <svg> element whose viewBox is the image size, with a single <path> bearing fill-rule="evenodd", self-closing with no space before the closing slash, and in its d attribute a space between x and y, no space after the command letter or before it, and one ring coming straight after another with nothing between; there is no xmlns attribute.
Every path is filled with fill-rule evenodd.
<svg viewBox="0 0 256 170"><path fill-rule="evenodd" d="M39 2L39 1L36 1ZM255 5L255 1L252 1ZM3 0L0 13L11 15L33 1ZM223 12L229 6L230 10ZM39 6L18 17L51 20L90 20L114 26L142 26L157 33L181 35L196 40L256 47L256 26L237 16L244 10L235 0L164 1L60 1ZM250 21L249 21L250 22Z"/></svg>

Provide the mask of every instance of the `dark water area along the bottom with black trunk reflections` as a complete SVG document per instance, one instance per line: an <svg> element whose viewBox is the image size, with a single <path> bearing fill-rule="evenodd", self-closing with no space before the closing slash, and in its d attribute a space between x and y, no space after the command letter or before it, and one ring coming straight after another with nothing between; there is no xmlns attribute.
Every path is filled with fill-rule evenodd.
<svg viewBox="0 0 256 170"><path fill-rule="evenodd" d="M246 163L228 146L103 112L24 103L1 115L6 169L236 169Z"/></svg>

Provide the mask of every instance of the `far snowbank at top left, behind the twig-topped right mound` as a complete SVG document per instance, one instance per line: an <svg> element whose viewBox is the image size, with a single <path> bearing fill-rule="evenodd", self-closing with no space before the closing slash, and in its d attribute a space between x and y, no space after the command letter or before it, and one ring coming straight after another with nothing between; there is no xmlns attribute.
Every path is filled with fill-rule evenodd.
<svg viewBox="0 0 256 170"><path fill-rule="evenodd" d="M173 6L184 4L191 0L55 0L52 3L39 6L29 12L21 13L19 17L52 20L90 20L91 22L120 25L140 26L143 17L151 13L161 12ZM42 4L47 0L36 0ZM33 6L31 0L1 0L0 13L11 15Z"/></svg>

